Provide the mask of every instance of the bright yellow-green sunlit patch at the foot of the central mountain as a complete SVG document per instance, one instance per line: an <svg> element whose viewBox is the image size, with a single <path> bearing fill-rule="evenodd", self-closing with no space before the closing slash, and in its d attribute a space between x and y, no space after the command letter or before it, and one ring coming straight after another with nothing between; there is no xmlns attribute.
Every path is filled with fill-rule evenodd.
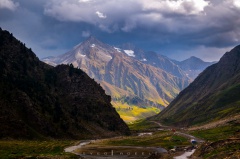
<svg viewBox="0 0 240 159"><path fill-rule="evenodd" d="M127 103L112 102L120 117L126 122L131 123L139 119L144 119L160 112L159 108L146 106L139 107L136 105L129 105Z"/></svg>

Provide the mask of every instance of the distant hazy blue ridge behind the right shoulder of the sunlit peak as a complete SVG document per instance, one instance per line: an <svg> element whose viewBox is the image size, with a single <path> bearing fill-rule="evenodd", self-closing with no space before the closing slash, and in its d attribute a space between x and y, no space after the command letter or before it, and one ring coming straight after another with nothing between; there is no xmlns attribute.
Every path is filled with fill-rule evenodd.
<svg viewBox="0 0 240 159"><path fill-rule="evenodd" d="M133 44L126 43L119 46L120 50L123 51L132 51L132 55L135 59L152 65L154 67L165 70L166 72L180 77L180 78L189 78L193 81L204 69L216 62L205 62L197 57L190 57L184 61L177 61L170 59L166 56L158 54L153 51L144 51L140 48L137 48Z"/></svg>

